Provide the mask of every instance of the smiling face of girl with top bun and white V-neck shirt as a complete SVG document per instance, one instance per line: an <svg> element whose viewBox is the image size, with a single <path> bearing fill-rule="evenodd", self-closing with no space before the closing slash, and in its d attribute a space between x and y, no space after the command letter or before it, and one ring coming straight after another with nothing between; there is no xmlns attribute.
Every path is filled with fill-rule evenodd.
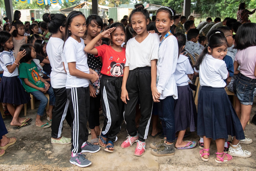
<svg viewBox="0 0 256 171"><path fill-rule="evenodd" d="M131 18L132 28L139 35L147 31L147 25L149 24L149 19L145 19L141 12L136 12Z"/></svg>

